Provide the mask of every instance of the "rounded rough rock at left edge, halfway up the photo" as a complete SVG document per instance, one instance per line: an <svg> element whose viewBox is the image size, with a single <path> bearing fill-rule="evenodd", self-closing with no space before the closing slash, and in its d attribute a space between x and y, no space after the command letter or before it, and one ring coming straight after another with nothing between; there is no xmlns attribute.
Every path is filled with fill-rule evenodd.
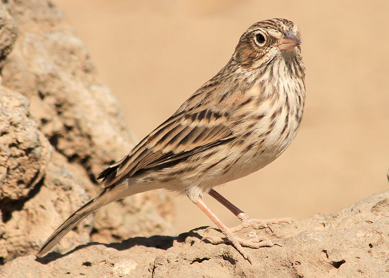
<svg viewBox="0 0 389 278"><path fill-rule="evenodd" d="M0 209L27 199L50 161L52 147L37 128L29 101L19 93L0 86Z"/></svg>

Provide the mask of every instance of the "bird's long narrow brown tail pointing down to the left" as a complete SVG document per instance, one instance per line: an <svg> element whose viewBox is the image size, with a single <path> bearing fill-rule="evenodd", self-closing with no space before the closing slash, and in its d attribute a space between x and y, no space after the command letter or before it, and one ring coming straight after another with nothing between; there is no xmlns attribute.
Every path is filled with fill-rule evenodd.
<svg viewBox="0 0 389 278"><path fill-rule="evenodd" d="M75 211L65 222L59 226L55 232L47 239L47 241L40 248L37 257L42 257L50 249L53 248L58 241L60 241L66 234L74 228L81 220L86 218L89 214L93 213L97 209L106 204L112 203L114 201L120 200L126 196L133 195L139 192L131 192L123 196L123 191L117 190L117 185L112 185L103 189L103 191L97 195L95 198L90 200L87 204L84 204L77 211ZM122 194L121 194L122 193Z"/></svg>

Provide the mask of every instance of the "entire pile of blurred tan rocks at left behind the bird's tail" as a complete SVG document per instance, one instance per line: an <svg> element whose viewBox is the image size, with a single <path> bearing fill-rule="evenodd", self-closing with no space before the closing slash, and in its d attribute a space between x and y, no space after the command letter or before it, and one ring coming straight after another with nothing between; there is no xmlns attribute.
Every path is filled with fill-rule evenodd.
<svg viewBox="0 0 389 278"><path fill-rule="evenodd" d="M0 263L35 254L101 188L98 173L134 145L112 93L51 1L0 4ZM12 50L12 51L11 51ZM109 211L109 213L108 213ZM109 216L107 216L109 215ZM172 235L161 191L89 217L55 247Z"/></svg>

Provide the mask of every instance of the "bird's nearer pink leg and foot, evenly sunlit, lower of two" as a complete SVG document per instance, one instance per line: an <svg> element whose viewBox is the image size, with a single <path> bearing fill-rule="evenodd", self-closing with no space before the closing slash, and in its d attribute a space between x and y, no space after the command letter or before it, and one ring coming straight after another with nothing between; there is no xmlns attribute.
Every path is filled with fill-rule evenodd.
<svg viewBox="0 0 389 278"><path fill-rule="evenodd" d="M260 248L265 246L271 247L274 245L273 242L268 240L264 241L257 238L251 240L244 240L239 238L237 235L231 232L230 229L223 222L221 222L217 218L217 216L211 211L211 209L204 203L204 201L201 198L199 198L197 201L194 201L193 203L197 205L212 220L212 222L219 227L219 229L226 236L225 239L217 238L217 237L206 237L203 238L203 240L208 240L213 244L230 242L239 251L239 253L242 254L243 258L247 259L250 263L251 263L250 256L245 251L245 249L243 249L242 246L250 247L250 248Z"/></svg>

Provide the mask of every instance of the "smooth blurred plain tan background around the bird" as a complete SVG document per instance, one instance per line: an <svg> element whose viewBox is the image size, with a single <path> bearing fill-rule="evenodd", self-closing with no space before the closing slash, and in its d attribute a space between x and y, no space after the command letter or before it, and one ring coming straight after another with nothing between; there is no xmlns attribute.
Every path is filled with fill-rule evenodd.
<svg viewBox="0 0 389 278"><path fill-rule="evenodd" d="M248 26L293 20L307 69L300 132L275 162L218 191L253 217L301 218L388 189L389 1L56 2L138 139L227 63ZM238 223L205 201L227 225ZM186 197L175 206L179 232L212 224Z"/></svg>

